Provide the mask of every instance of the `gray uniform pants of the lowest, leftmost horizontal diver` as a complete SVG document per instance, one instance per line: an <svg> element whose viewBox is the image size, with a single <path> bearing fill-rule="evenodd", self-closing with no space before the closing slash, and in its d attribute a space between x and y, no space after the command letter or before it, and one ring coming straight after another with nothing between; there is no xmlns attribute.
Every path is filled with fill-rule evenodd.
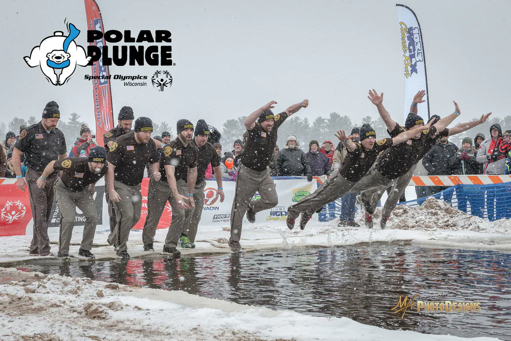
<svg viewBox="0 0 511 341"><path fill-rule="evenodd" d="M335 169L330 177L324 183L305 198L302 198L288 208L288 214L291 218L296 219L301 212L307 215L313 215L316 210L323 207L329 202L340 198L346 193L351 192L356 183L346 180L338 169Z"/></svg>

